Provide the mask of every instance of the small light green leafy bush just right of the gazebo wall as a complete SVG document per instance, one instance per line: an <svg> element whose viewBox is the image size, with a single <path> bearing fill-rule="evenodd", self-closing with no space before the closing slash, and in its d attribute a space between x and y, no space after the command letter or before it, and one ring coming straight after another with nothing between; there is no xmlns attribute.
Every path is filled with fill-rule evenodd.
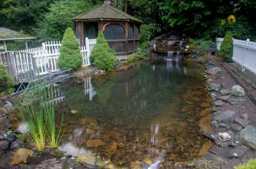
<svg viewBox="0 0 256 169"><path fill-rule="evenodd" d="M151 41L155 37L157 25L155 23L142 24L140 26L140 40L141 42Z"/></svg>

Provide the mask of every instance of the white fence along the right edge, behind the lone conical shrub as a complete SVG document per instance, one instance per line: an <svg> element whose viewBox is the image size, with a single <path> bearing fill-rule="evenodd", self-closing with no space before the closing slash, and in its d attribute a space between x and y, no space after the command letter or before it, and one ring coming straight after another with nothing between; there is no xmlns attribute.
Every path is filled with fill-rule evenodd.
<svg viewBox="0 0 256 169"><path fill-rule="evenodd" d="M220 50L223 38L216 38L216 47ZM233 57L232 60L239 65L242 69L247 68L256 74L256 42L250 42L233 39Z"/></svg>

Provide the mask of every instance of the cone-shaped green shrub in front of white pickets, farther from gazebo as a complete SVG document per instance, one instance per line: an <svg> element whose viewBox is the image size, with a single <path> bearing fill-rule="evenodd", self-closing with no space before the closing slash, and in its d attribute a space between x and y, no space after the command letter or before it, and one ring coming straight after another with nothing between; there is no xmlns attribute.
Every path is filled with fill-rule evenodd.
<svg viewBox="0 0 256 169"><path fill-rule="evenodd" d="M79 49L79 43L76 40L73 30L67 28L63 43L60 47L60 55L58 58L58 67L78 69L82 65L82 55Z"/></svg>

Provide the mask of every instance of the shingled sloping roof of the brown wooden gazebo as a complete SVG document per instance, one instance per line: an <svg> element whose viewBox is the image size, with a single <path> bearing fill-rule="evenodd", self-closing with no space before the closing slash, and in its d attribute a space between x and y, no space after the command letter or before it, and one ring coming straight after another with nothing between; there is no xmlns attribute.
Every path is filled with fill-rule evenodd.
<svg viewBox="0 0 256 169"><path fill-rule="evenodd" d="M96 8L89 10L86 13L78 15L77 17L73 18L72 20L80 20L80 19L129 19L136 22L143 23L141 20L129 15L123 11L120 11L109 4L103 4Z"/></svg>

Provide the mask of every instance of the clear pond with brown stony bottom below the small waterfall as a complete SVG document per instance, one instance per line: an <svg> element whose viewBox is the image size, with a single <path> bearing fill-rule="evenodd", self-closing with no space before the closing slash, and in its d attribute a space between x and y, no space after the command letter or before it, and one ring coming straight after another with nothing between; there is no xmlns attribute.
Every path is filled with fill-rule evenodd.
<svg viewBox="0 0 256 169"><path fill-rule="evenodd" d="M202 156L209 141L200 126L210 131L211 106L204 71L181 61L148 61L58 87L59 149L90 151L126 167L163 160L168 168Z"/></svg>

